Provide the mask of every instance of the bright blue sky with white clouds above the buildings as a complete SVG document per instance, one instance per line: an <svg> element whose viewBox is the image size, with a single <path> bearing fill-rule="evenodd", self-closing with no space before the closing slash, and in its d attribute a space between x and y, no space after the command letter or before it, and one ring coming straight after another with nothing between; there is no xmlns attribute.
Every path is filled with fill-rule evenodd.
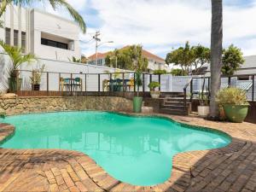
<svg viewBox="0 0 256 192"><path fill-rule="evenodd" d="M172 49L210 46L210 0L67 0L84 17L86 34L80 34L82 53L95 53L92 36L101 32L99 52L128 44L142 44L166 58ZM42 7L54 13L48 5ZM55 12L67 17L63 9ZM235 44L244 55L256 55L256 0L224 0L224 47Z"/></svg>

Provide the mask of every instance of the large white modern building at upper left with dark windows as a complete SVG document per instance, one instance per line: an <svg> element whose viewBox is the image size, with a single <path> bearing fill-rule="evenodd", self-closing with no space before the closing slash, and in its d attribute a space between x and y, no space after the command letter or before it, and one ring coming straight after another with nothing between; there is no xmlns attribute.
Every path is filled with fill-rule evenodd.
<svg viewBox="0 0 256 192"><path fill-rule="evenodd" d="M1 18L0 38L39 58L68 61L81 57L79 26L38 9L9 6Z"/></svg>

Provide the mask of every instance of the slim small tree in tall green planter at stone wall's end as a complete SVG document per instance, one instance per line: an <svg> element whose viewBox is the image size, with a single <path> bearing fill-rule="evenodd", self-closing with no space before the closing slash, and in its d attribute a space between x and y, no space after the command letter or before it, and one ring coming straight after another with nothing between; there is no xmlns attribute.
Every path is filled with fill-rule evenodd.
<svg viewBox="0 0 256 192"><path fill-rule="evenodd" d="M143 97L139 96L139 88L143 85L143 81L141 79L142 73L135 73L134 85L137 87L137 96L133 97L133 112L141 113L143 106Z"/></svg>

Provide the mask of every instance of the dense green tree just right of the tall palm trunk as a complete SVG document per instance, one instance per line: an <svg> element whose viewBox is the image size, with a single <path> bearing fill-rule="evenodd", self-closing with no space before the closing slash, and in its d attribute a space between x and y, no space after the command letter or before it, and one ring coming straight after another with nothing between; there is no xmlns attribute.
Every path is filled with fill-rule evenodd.
<svg viewBox="0 0 256 192"><path fill-rule="evenodd" d="M233 44L228 49L224 49L222 57L223 67L221 72L224 75L233 75L237 69L244 63L241 49L235 47Z"/></svg>

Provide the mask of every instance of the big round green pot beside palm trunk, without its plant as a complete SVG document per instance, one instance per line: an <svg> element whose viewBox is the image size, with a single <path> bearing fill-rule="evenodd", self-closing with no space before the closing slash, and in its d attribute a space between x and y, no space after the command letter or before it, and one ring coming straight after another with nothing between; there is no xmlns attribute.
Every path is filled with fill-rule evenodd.
<svg viewBox="0 0 256 192"><path fill-rule="evenodd" d="M241 123L246 119L249 105L224 105L226 117L234 123Z"/></svg>

